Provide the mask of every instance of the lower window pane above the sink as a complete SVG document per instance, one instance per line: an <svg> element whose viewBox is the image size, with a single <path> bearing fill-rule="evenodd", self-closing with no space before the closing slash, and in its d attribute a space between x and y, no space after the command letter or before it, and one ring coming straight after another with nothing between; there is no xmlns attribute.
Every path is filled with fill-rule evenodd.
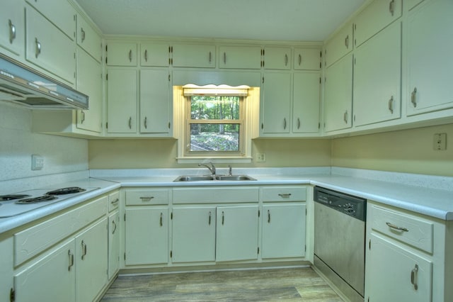
<svg viewBox="0 0 453 302"><path fill-rule="evenodd" d="M239 124L190 124L190 151L239 151Z"/></svg>

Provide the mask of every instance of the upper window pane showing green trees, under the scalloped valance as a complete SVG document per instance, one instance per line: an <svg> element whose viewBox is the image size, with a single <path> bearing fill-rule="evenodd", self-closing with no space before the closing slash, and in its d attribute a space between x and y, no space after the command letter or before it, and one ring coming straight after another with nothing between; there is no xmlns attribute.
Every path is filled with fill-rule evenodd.
<svg viewBox="0 0 453 302"><path fill-rule="evenodd" d="M193 120L239 120L239 96L192 96Z"/></svg>

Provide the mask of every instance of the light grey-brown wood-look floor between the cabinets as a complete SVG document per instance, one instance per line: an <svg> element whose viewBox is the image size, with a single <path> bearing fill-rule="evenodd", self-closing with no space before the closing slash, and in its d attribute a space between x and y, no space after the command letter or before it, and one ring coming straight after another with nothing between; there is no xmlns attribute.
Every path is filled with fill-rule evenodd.
<svg viewBox="0 0 453 302"><path fill-rule="evenodd" d="M343 301L306 268L119 276L101 301Z"/></svg>

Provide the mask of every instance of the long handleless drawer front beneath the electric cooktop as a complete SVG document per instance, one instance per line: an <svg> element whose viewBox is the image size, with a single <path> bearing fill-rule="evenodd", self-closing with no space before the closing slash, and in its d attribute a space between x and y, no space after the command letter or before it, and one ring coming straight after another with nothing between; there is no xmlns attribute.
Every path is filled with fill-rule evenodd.
<svg viewBox="0 0 453 302"><path fill-rule="evenodd" d="M107 196L98 198L96 201L14 234L14 265L18 266L105 215L107 200Z"/></svg>

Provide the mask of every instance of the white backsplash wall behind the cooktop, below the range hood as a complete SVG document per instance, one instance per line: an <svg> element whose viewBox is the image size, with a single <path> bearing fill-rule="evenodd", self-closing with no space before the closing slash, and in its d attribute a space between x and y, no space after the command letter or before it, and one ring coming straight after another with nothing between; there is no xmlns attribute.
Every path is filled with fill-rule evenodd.
<svg viewBox="0 0 453 302"><path fill-rule="evenodd" d="M31 155L44 158L41 170L31 169ZM0 101L0 181L88 169L88 141L32 133L31 111Z"/></svg>

